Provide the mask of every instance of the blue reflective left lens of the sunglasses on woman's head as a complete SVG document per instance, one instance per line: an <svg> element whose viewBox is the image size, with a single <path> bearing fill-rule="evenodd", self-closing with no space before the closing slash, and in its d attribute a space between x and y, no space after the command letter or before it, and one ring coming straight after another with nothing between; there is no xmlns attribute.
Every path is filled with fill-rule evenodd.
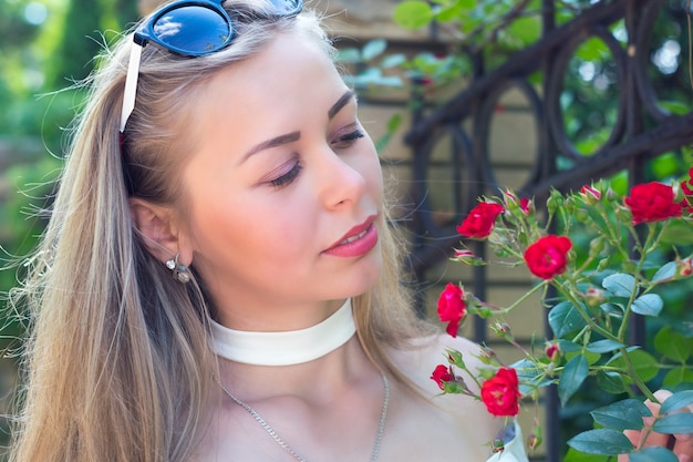
<svg viewBox="0 0 693 462"><path fill-rule="evenodd" d="M192 4L175 8L154 22L154 35L173 51L201 55L226 47L230 24L219 12Z"/></svg>

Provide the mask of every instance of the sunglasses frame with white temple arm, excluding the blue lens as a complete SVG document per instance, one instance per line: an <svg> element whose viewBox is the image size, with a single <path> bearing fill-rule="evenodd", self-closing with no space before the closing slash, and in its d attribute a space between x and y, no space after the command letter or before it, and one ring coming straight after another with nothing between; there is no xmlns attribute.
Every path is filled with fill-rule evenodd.
<svg viewBox="0 0 693 462"><path fill-rule="evenodd" d="M228 12L221 7L225 0L178 0L172 3L168 3L162 7L159 10L155 11L145 22L143 22L135 33L133 34L133 45L130 52L130 62L127 65L127 75L125 78L125 90L123 92L123 109L121 112L121 124L120 124L120 133L121 133L121 143L123 142L123 133L125 132L125 126L127 125L127 120L135 109L135 99L137 95L137 81L139 80L139 63L142 61L142 50L147 45L147 43L156 43L158 47L168 50L174 54L178 54L182 57L188 58L198 58L207 54L215 53L219 50L227 48L234 38L236 37L234 21ZM298 16L303 9L303 0L271 0L272 3L277 7L277 10L280 10L280 4L285 6L293 6L293 9L288 10L286 12L277 13L278 18L292 18ZM207 49L203 51L194 51L194 50L185 50L179 47L172 45L161 40L156 33L154 32L154 27L159 19L162 19L165 14L170 11L178 10L186 7L200 7L213 10L220 18L226 21L228 27L228 37L218 47L213 49Z"/></svg>

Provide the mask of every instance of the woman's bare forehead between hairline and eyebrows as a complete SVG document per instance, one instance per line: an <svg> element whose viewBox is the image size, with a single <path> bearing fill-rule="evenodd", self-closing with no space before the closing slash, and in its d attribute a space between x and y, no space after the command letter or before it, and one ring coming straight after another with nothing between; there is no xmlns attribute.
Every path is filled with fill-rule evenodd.
<svg viewBox="0 0 693 462"><path fill-rule="evenodd" d="M234 144L257 143L268 133L301 130L303 123L327 119L345 90L317 39L285 33L203 86L193 104L194 132L204 138L234 135Z"/></svg>

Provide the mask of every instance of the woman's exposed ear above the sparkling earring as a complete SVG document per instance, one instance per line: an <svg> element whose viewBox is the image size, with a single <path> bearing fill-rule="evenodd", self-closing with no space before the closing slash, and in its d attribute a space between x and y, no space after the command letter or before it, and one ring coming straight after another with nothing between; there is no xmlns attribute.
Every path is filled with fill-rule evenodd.
<svg viewBox="0 0 693 462"><path fill-rule="evenodd" d="M179 261L183 265L190 264L190 253L180 246L183 238L180 226L170 207L134 197L130 199L130 213L135 226L144 236L144 244L156 259L166 263L179 254Z"/></svg>

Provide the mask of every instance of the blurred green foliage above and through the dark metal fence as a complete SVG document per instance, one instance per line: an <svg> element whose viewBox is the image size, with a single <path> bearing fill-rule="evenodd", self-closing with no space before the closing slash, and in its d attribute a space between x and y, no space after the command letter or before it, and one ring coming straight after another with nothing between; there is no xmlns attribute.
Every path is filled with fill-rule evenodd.
<svg viewBox="0 0 693 462"><path fill-rule="evenodd" d="M560 27L577 19L592 1L552 1L552 18ZM602 2L599 2L602 3ZM377 57L359 54L349 49L346 54L358 89L381 94L383 84L394 86L397 81L408 93L425 96L427 104L438 104L436 95L446 94L446 88L472 81L479 73L488 74L505 63L516 52L535 44L542 33L545 2L523 0L517 2L495 0L407 0L397 3L393 19L407 29L427 29L437 51L414 55L389 52L379 40ZM648 10L649 13L652 11ZM655 10L656 11L656 10ZM685 114L693 107L691 83L685 53L686 14L681 2L662 2L658 20L643 55L658 105L672 114ZM609 140L619 116L619 97L622 97L623 75L619 75L614 53L625 54L628 33L623 21L617 21L608 31L613 42L590 37L577 44L563 76L560 94L560 115L567 138L582 155L591 155ZM364 45L364 50L371 43ZM396 63L396 65L392 65ZM386 65L385 65L386 64ZM528 80L541 88L547 79L540 72ZM417 90L417 88L420 88ZM447 93L448 94L448 93ZM652 123L645 120L645 124ZM690 165L690 148L682 147L653 163L654 177L680 174ZM559 170L569 168L572 161L559 156ZM624 192L624 183L622 183Z"/></svg>

